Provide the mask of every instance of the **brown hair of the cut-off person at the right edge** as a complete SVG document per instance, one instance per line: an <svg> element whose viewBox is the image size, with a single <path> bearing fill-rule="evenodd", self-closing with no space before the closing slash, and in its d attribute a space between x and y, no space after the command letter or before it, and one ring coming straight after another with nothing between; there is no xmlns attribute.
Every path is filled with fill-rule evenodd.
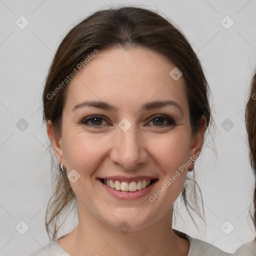
<svg viewBox="0 0 256 256"><path fill-rule="evenodd" d="M251 85L248 100L245 108L245 125L247 131L247 140L249 144L249 159L250 164L253 170L253 175L255 177L255 186L253 193L253 204L254 204L254 213L250 215L253 219L253 224L256 230L256 72L254 73Z"/></svg>

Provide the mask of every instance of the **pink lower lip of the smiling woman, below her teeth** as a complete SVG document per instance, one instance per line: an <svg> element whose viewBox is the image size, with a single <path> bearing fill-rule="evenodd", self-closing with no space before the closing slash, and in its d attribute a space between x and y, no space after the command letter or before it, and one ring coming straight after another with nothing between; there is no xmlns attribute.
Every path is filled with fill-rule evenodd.
<svg viewBox="0 0 256 256"><path fill-rule="evenodd" d="M122 199L122 200L135 200L135 199L138 199L138 198L141 198L141 197L145 196L146 194L148 194L150 192L150 190L153 188L154 184L157 182L157 180L155 180L152 184L150 184L146 188L142 188L142 189L137 190L135 192L130 192L130 191L116 190L114 188L111 188L111 187L105 185L99 179L98 179L98 181L100 182L102 187L109 194L111 194L113 197L115 197L117 199Z"/></svg>

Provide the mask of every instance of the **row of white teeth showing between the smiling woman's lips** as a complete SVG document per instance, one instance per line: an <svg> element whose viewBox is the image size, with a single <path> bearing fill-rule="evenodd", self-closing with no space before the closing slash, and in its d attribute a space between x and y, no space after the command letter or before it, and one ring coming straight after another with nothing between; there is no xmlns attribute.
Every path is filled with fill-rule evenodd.
<svg viewBox="0 0 256 256"><path fill-rule="evenodd" d="M130 192L135 192L137 190L144 189L150 186L152 183L157 182L157 180L158 179L155 178L155 179L148 179L148 180L141 179L137 181L127 182L127 181L100 178L100 181L110 188L113 188L115 190L130 191Z"/></svg>

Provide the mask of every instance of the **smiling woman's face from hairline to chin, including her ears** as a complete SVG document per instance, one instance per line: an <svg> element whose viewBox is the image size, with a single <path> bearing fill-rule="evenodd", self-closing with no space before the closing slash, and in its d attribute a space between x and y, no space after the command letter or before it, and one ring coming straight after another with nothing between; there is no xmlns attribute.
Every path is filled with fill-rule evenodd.
<svg viewBox="0 0 256 256"><path fill-rule="evenodd" d="M170 76L174 67L145 48L115 48L99 51L70 81L61 137L47 131L86 217L135 230L172 209L204 133L201 125L191 134L185 82Z"/></svg>

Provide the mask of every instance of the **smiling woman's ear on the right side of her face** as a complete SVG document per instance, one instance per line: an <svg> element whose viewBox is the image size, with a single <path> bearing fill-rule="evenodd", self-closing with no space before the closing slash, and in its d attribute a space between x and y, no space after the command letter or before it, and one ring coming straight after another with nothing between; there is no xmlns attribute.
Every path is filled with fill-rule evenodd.
<svg viewBox="0 0 256 256"><path fill-rule="evenodd" d="M200 118L200 126L196 134L193 135L190 144L190 152L189 152L189 159L191 160L191 164L189 164L187 170L191 171L194 167L194 161L198 158L204 139L204 132L205 132L205 123L206 119L205 116L202 115ZM190 161L189 161L190 162Z"/></svg>

